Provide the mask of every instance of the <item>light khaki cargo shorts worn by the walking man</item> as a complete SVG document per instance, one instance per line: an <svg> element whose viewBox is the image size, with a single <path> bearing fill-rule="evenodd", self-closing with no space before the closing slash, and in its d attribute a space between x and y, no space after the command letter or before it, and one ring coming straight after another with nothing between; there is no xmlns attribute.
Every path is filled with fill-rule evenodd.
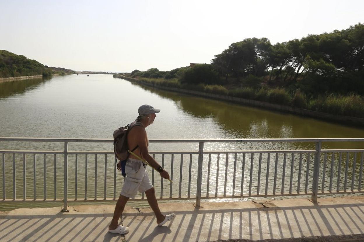
<svg viewBox="0 0 364 242"><path fill-rule="evenodd" d="M137 192L144 193L153 187L143 162L138 159L128 158L125 165L126 178L121 195L135 198Z"/></svg>

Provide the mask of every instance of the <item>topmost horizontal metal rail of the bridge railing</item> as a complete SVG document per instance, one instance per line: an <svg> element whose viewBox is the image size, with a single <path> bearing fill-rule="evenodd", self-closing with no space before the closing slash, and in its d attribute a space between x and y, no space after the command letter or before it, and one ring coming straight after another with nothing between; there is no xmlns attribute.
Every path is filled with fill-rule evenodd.
<svg viewBox="0 0 364 242"><path fill-rule="evenodd" d="M112 143L113 139L92 138L23 138L23 137L0 137L0 141L23 141L23 142L93 142ZM228 143L228 142L364 142L364 138L293 138L293 139L150 139L150 143Z"/></svg>

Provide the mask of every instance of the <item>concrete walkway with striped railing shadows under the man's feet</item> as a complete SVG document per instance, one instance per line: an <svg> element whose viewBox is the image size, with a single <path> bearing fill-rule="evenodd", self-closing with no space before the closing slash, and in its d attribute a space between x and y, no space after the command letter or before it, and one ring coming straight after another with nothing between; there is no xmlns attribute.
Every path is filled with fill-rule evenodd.
<svg viewBox="0 0 364 242"><path fill-rule="evenodd" d="M249 202L161 203L177 217L158 227L149 208L128 207L125 237L107 232L113 205L16 209L0 214L0 241L216 241L364 234L364 197L255 200ZM1 204L1 203L0 203Z"/></svg>

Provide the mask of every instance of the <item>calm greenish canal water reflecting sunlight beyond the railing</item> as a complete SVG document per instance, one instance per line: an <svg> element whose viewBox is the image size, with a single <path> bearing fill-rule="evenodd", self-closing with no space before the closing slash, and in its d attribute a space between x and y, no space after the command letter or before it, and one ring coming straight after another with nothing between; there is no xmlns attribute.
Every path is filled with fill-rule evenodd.
<svg viewBox="0 0 364 242"><path fill-rule="evenodd" d="M313 118L241 106L155 90L132 84L112 75L66 75L51 79L29 79L0 83L0 137L49 138L112 138L112 132L133 121L138 107L150 104L161 109L153 125L147 127L149 139L210 139L210 138L362 138L358 127L329 123ZM324 143L322 148L363 148L363 143ZM313 143L208 143L205 151L314 149ZM0 142L0 150L63 150L62 143ZM69 150L110 151L112 144L69 144ZM151 143L150 151L196 151L197 143ZM27 198L33 196L33 155L26 155ZM89 156L95 161L95 156ZM7 198L12 198L12 155L5 155ZM23 155L17 155L17 197L23 197ZM100 158L102 159L102 158ZM225 159L225 157L221 157ZM0 157L2 161L2 157ZM37 155L37 197L43 195L43 155ZM56 195L63 194L63 162L56 163ZM83 164L85 156L79 156ZM359 160L359 157L358 157ZM54 196L54 159L46 157L47 196ZM98 160L96 160L98 162ZM111 161L111 164L112 161ZM0 164L3 170L3 164ZM84 169L80 165L79 171ZM112 165L110 165L111 168ZM90 166L92 168L92 166ZM217 167L215 167L217 168ZM95 167L93 167L95 170ZM230 169L230 168L229 168ZM75 158L70 157L70 192L75 179ZM92 174L94 171L90 171ZM360 172L360 171L359 171ZM73 174L73 175L72 175ZM111 171L111 174L113 172ZM194 173L195 175L195 173ZM3 174L1 173L1 177ZM82 179L84 179L82 177ZM79 186L83 187L80 178ZM108 178L108 180L112 177ZM195 179L194 177L192 179ZM216 177L214 178L216 179ZM110 182L111 182L110 180ZM118 182L122 180L118 174ZM3 199L3 179L0 199ZM88 180L91 184L92 178ZM204 183L203 183L204 184ZM177 185L178 186L178 185ZM90 185L89 187L92 187ZM118 187L118 191L120 190ZM100 186L102 196L103 186ZM183 187L183 189L187 189ZM191 187L191 190L194 187ZM206 189L206 188L205 188ZM219 188L223 189L223 188ZM9 191L8 191L9 190ZM80 192L82 188L79 189ZM108 197L112 193L108 191ZM169 190L169 189L166 189ZM220 190L219 190L220 191ZM39 193L39 195L38 195ZM92 188L89 190L93 194ZM220 193L220 192L219 192ZM2 210L15 207L55 206L55 203L0 203Z"/></svg>

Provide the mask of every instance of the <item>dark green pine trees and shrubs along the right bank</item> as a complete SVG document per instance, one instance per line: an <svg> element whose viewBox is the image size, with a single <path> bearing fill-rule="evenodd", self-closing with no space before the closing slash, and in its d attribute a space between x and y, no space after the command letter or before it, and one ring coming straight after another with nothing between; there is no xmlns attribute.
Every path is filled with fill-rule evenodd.
<svg viewBox="0 0 364 242"><path fill-rule="evenodd" d="M308 96L324 93L364 94L364 25L308 35L271 44L267 38L232 43L211 64L171 71L151 68L126 74L134 78L177 79L188 84L219 84L253 89L300 90Z"/></svg>

